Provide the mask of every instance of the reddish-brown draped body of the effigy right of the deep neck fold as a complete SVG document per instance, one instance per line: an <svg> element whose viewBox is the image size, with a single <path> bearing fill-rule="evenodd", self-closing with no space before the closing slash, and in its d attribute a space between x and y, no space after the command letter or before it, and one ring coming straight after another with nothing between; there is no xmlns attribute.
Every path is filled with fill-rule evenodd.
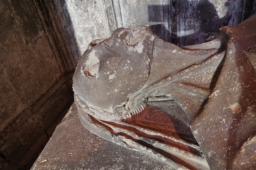
<svg viewBox="0 0 256 170"><path fill-rule="evenodd" d="M220 33L228 36L225 60L192 132L213 169L249 169L256 162L256 15Z"/></svg>

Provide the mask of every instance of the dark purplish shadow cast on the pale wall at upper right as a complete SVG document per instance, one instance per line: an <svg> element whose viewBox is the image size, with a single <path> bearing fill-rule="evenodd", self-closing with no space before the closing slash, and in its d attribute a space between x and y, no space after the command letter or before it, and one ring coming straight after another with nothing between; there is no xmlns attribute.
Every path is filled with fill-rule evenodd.
<svg viewBox="0 0 256 170"><path fill-rule="evenodd" d="M182 47L203 43L220 27L237 25L256 12L256 2L252 0L228 0L224 5L218 0L215 3L214 6L209 0L180 0L163 6L148 5L148 21L160 22L151 25L158 37ZM234 12L237 6L244 10Z"/></svg>

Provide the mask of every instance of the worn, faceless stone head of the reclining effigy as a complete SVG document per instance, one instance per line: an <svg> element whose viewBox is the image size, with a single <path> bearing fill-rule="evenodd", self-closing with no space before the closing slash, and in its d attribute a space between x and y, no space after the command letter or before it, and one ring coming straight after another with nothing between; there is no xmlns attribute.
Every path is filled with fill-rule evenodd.
<svg viewBox="0 0 256 170"><path fill-rule="evenodd" d="M148 79L153 40L154 33L146 25L119 28L110 38L90 43L73 78L75 96L88 106L89 114L122 118L128 96Z"/></svg>

